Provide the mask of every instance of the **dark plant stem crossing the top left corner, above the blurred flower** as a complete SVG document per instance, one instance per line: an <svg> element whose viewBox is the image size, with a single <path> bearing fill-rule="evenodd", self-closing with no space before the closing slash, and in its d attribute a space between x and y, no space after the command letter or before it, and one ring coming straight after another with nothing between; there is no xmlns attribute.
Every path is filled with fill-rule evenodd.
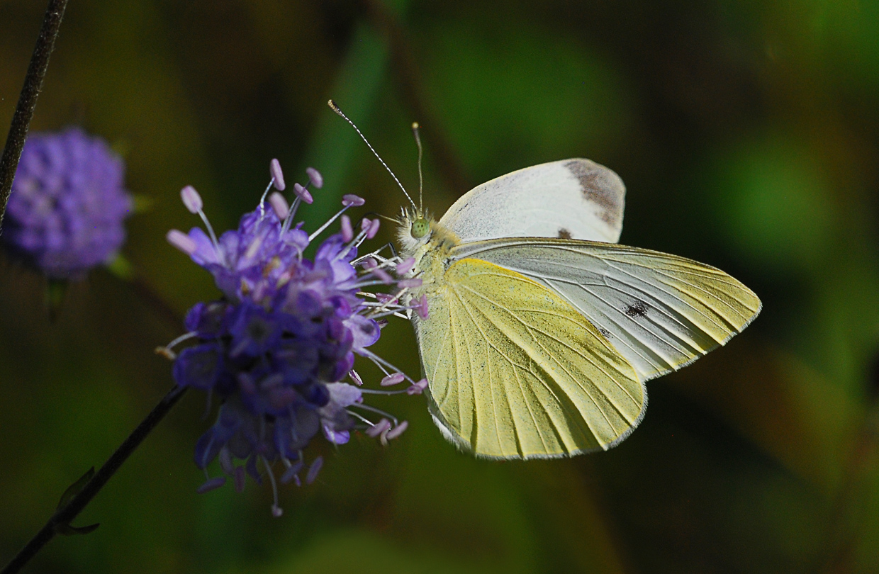
<svg viewBox="0 0 879 574"><path fill-rule="evenodd" d="M6 214L6 202L9 201L9 194L12 191L12 179L15 178L21 149L25 146L27 128L31 125L33 109L37 106L37 96L40 95L43 87L43 78L46 77L46 69L49 66L49 55L52 54L54 40L58 37L58 28L64 18L65 8L67 8L67 0L49 0L46 16L40 28L40 37L37 38L37 45L33 48L31 63L27 66L25 85L21 89L18 105L12 115L3 156L0 157L0 224L3 223Z"/></svg>

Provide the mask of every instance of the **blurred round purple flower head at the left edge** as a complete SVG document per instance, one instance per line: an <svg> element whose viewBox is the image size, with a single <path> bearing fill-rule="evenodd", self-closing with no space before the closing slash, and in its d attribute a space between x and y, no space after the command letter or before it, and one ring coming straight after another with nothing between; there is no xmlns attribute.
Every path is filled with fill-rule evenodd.
<svg viewBox="0 0 879 574"><path fill-rule="evenodd" d="M78 127L32 134L12 184L4 243L48 277L84 276L125 241L132 200L124 176L120 156Z"/></svg>

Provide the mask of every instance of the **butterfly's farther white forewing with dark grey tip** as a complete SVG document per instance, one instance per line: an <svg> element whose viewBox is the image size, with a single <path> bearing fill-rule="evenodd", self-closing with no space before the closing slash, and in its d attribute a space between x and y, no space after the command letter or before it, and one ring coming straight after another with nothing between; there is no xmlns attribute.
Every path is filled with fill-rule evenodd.
<svg viewBox="0 0 879 574"><path fill-rule="evenodd" d="M614 171L588 159L565 159L476 186L455 201L439 223L464 243L498 237L616 243L625 193Z"/></svg>

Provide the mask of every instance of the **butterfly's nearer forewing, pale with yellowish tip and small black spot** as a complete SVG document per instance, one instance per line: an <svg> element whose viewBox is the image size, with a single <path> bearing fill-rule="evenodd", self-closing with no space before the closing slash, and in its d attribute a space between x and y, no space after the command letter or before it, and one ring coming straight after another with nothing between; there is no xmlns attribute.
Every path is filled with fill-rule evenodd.
<svg viewBox="0 0 879 574"><path fill-rule="evenodd" d="M641 381L684 367L745 329L761 308L730 275L674 255L608 243L498 239L458 245L540 282L579 310Z"/></svg>

